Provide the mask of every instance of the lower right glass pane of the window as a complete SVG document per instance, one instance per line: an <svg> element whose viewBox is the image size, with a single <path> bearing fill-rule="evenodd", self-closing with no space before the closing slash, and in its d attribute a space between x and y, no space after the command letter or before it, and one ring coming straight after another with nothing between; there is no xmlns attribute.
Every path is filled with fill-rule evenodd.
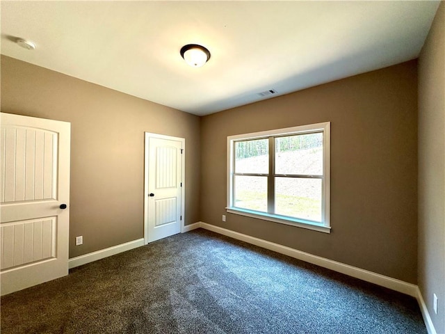
<svg viewBox="0 0 445 334"><path fill-rule="evenodd" d="M275 177L275 214L321 222L321 179Z"/></svg>

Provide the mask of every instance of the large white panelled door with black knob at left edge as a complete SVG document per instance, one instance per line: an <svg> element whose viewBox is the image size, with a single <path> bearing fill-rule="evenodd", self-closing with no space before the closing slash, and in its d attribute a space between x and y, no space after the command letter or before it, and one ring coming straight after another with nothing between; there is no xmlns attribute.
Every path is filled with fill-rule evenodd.
<svg viewBox="0 0 445 334"><path fill-rule="evenodd" d="M68 122L0 113L1 295L68 274Z"/></svg>

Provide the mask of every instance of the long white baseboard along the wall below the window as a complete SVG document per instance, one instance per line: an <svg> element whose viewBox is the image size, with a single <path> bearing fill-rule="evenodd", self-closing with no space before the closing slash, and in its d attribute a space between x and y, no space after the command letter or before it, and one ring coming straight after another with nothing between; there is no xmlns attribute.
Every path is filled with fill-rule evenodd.
<svg viewBox="0 0 445 334"><path fill-rule="evenodd" d="M374 284L380 285L382 287L387 287L388 289L402 292L403 294L407 294L407 295L413 296L415 298L418 296L417 285L404 282L403 280L397 280L396 278L391 278L388 276L380 275L380 273L373 273L372 271L353 267L348 264L343 264L341 262L332 261L332 260L326 259L325 257L320 257L320 256L312 255L309 253L305 253L305 252L302 252L301 250L296 250L294 248L282 246L280 244L275 244L273 242L266 241L264 239L250 237L250 235L234 232L232 230L220 228L218 226L210 225L208 223L199 222L199 224L200 224L201 228L204 228L206 230L210 230L210 231L213 231L213 232L216 232L219 234L223 234L227 237L245 241L245 242L248 242L249 244L253 244L255 246L266 248L268 250L273 250L277 253L288 255L288 256L294 257L298 260L316 264L319 267L331 269L331 270L337 271L339 273L344 273L345 275L359 278L366 282L374 283Z"/></svg>

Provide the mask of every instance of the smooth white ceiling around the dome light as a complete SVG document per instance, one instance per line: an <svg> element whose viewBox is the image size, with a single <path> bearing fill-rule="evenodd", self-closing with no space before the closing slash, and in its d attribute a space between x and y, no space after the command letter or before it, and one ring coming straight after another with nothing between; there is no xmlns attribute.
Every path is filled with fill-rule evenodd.
<svg viewBox="0 0 445 334"><path fill-rule="evenodd" d="M1 1L1 54L207 115L414 59L439 2Z"/></svg>

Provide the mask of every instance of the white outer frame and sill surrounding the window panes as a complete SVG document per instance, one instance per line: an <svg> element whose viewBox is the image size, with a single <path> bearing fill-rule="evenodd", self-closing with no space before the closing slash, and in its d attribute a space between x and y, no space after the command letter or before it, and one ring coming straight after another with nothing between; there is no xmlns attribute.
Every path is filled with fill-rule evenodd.
<svg viewBox="0 0 445 334"><path fill-rule="evenodd" d="M291 136L296 134L311 134L314 132L323 132L323 176L317 177L322 180L322 199L321 199L321 223L314 221L305 221L301 218L291 218L270 214L266 212L257 212L254 210L234 207L234 148L236 141L245 141L249 139L268 138L272 136ZM269 148L269 154L275 148ZM269 177L275 177L273 171L269 170ZM269 203L268 203L269 204ZM275 129L264 132L254 132L251 134L238 134L227 137L227 207L226 211L231 214L239 214L252 218L259 218L265 221L273 221L286 225L307 228L319 232L330 233L330 122L321 122L311 125L302 125L298 127L287 127L285 129Z"/></svg>

